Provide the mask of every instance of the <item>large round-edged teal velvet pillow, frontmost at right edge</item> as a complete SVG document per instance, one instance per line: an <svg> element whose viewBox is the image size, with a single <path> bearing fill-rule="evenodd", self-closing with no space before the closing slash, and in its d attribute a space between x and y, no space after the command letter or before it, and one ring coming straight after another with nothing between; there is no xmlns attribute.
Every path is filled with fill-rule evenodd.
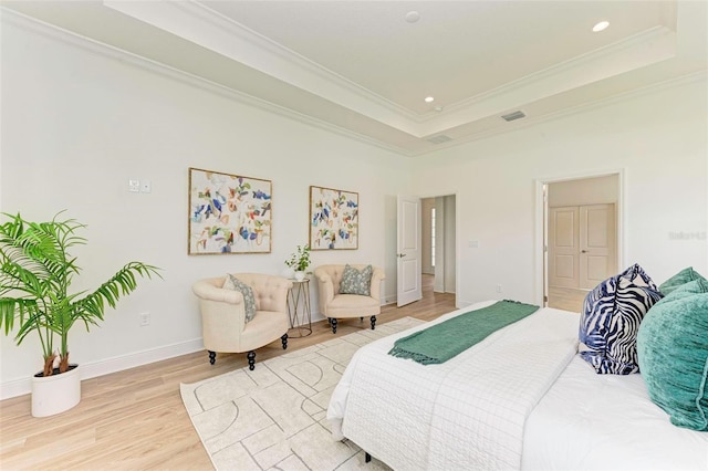
<svg viewBox="0 0 708 471"><path fill-rule="evenodd" d="M689 285L649 310L637 354L649 397L671 423L708 431L708 283Z"/></svg>

